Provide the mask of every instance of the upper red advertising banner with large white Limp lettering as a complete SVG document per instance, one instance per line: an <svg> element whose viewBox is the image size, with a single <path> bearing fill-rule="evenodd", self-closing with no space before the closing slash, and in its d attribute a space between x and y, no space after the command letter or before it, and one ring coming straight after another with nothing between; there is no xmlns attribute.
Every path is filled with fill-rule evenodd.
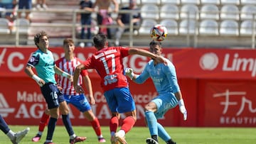
<svg viewBox="0 0 256 144"><path fill-rule="evenodd" d="M0 77L24 77L23 68L31 52L36 48L0 48ZM51 48L55 59L63 55L62 48ZM92 55L94 48L77 48L76 56L81 60ZM164 56L176 65L180 78L203 79L256 79L256 51L228 49L164 49ZM142 72L149 59L132 55L124 59L125 67ZM97 75L95 71L91 76Z"/></svg>

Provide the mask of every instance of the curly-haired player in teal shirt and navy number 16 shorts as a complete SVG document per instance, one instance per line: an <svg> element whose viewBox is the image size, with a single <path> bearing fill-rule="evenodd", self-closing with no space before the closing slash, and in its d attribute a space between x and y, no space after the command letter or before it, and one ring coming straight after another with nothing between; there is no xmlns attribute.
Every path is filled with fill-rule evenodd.
<svg viewBox="0 0 256 144"><path fill-rule="evenodd" d="M41 88L43 97L46 99L48 109L50 110L50 121L48 123L48 132L46 136L46 142L44 144L53 143L53 132L59 113L62 115L63 123L70 136L70 144L84 141L86 138L78 137L73 131L72 124L69 117L68 105L64 99L63 94L56 86L55 74L68 77L70 81L73 81L73 76L67 72L63 72L55 65L52 52L48 50L49 40L45 31L41 31L34 36L34 42L38 48L36 52L33 52L30 60L28 61L25 72L29 77L33 78ZM33 72L33 68L36 68L36 75Z"/></svg>

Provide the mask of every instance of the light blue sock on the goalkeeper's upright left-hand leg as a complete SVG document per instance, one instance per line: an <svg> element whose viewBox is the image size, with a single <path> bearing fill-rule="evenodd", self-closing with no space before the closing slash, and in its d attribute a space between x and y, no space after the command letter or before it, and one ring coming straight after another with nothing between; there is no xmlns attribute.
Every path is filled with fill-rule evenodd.
<svg viewBox="0 0 256 144"><path fill-rule="evenodd" d="M156 116L154 116L154 112L152 111L146 111L146 122L149 127L150 135L158 135L157 131L157 119Z"/></svg>

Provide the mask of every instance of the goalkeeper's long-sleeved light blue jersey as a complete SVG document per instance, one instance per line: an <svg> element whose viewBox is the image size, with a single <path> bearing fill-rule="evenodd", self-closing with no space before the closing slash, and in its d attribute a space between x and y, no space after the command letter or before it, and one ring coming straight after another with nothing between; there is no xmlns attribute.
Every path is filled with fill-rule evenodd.
<svg viewBox="0 0 256 144"><path fill-rule="evenodd" d="M166 59L166 62L167 65L164 63L154 65L154 60L150 60L142 74L139 74L139 77L137 77L134 82L141 84L151 77L154 86L156 87L156 91L159 94L179 92L180 88L178 86L174 64L168 59Z"/></svg>

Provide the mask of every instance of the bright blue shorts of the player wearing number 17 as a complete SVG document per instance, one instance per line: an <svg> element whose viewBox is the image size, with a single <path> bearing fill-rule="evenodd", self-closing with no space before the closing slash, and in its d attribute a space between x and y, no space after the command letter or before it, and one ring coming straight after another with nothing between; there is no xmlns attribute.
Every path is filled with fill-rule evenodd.
<svg viewBox="0 0 256 144"><path fill-rule="evenodd" d="M112 113L126 113L136 109L134 99L128 87L109 90L104 93L104 96Z"/></svg>

